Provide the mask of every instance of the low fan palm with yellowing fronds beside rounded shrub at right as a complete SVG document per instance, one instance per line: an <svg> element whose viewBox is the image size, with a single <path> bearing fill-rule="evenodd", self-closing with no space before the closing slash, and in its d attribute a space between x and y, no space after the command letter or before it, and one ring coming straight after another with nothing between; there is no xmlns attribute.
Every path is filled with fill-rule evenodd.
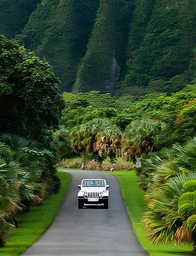
<svg viewBox="0 0 196 256"><path fill-rule="evenodd" d="M186 225L188 217L178 211L178 201L183 194L184 183L193 178L196 179L196 174L179 174L171 178L159 192L155 190L153 198L148 198L148 210L143 222L147 236L154 244L192 241L192 233Z"/></svg>

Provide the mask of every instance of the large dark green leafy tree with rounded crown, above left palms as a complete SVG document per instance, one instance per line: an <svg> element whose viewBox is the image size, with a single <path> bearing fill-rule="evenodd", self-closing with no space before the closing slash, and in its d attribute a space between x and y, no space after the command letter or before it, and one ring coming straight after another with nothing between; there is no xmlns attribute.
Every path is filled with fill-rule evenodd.
<svg viewBox="0 0 196 256"><path fill-rule="evenodd" d="M42 142L60 117L57 78L46 61L4 36L0 63L0 131Z"/></svg>

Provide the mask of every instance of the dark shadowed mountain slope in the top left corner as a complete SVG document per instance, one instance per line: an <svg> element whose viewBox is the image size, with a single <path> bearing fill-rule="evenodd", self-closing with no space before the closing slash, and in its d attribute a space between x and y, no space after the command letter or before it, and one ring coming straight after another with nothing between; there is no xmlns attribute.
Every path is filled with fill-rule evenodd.
<svg viewBox="0 0 196 256"><path fill-rule="evenodd" d="M40 0L0 0L0 34L14 38Z"/></svg>

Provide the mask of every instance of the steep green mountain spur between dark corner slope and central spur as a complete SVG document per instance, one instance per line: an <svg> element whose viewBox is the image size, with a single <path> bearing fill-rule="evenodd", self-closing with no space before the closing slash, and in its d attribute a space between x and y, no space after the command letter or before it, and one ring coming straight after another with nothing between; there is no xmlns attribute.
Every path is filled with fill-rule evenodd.
<svg viewBox="0 0 196 256"><path fill-rule="evenodd" d="M42 0L17 39L53 66L70 91L85 55L99 0Z"/></svg>

